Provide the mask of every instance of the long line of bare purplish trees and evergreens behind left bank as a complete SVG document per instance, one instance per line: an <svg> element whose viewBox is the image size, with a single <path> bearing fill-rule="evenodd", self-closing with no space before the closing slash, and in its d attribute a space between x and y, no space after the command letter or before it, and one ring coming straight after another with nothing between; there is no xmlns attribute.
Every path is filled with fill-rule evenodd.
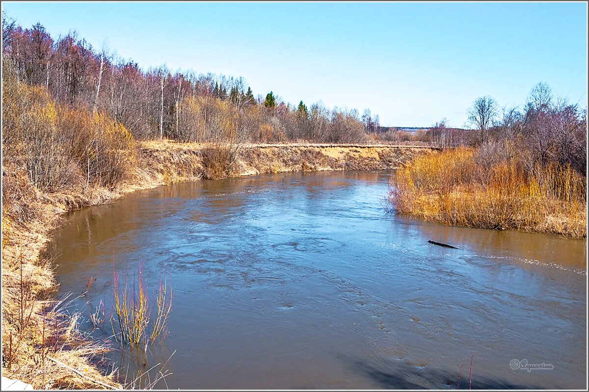
<svg viewBox="0 0 589 392"><path fill-rule="evenodd" d="M335 143L362 141L374 129L369 112L295 107L273 92L254 97L241 77L143 70L75 32L56 39L39 23L23 29L5 14L2 34L3 62L17 84L44 87L59 105L101 112L137 140Z"/></svg>

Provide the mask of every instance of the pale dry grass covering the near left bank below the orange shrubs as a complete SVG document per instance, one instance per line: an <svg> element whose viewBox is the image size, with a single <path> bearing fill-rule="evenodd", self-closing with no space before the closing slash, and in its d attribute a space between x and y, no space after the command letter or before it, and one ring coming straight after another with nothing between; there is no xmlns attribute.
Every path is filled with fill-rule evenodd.
<svg viewBox="0 0 589 392"><path fill-rule="evenodd" d="M48 299L57 282L39 252L63 210L17 167L2 177L2 375L41 389L121 387L96 367L107 346L80 333L68 303Z"/></svg>

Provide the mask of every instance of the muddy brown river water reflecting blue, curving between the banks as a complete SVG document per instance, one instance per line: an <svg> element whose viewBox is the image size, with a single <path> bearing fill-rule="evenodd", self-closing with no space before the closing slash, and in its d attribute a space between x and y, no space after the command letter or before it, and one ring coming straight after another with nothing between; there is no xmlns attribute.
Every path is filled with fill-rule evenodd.
<svg viewBox="0 0 589 392"><path fill-rule="evenodd" d="M585 388L586 242L389 214L391 174L199 181L72 212L47 250L58 295L95 279L72 304L88 329L114 268L168 277L147 357L176 350L169 388L456 388L461 366L468 388L473 353L472 388Z"/></svg>

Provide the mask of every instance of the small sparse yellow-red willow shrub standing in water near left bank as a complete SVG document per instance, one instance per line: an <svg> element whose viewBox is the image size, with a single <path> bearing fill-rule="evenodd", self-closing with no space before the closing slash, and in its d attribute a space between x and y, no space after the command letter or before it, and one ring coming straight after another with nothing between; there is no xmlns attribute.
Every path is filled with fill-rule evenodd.
<svg viewBox="0 0 589 392"><path fill-rule="evenodd" d="M130 346L153 343L157 337L166 333L168 318L172 310L172 290L167 281L161 281L155 293L155 307L150 305L150 295L143 280L143 267L139 267L133 281L125 278L124 287L120 286L119 276L114 274L114 313L115 323L111 320L112 333L118 341ZM152 310L155 314L152 314ZM150 328L151 327L151 328Z"/></svg>

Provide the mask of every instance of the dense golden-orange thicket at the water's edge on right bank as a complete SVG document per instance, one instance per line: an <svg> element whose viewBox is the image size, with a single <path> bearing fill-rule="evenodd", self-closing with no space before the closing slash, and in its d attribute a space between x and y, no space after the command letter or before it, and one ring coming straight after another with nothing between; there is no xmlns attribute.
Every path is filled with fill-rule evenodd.
<svg viewBox="0 0 589 392"><path fill-rule="evenodd" d="M556 162L531 168L514 154L481 162L460 148L400 168L389 201L400 214L451 225L587 237L586 178Z"/></svg>

